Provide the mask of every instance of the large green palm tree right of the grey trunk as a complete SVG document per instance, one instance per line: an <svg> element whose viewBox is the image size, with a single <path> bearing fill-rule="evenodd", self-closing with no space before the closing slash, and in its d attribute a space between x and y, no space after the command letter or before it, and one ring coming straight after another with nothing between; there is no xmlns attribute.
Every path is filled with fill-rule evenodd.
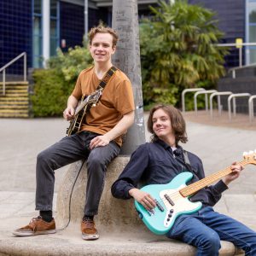
<svg viewBox="0 0 256 256"><path fill-rule="evenodd" d="M148 102L178 102L184 88L224 75L225 49L214 13L185 0L160 2L141 25L143 96ZM152 101L153 99L153 101ZM147 102L148 101L148 102Z"/></svg>

